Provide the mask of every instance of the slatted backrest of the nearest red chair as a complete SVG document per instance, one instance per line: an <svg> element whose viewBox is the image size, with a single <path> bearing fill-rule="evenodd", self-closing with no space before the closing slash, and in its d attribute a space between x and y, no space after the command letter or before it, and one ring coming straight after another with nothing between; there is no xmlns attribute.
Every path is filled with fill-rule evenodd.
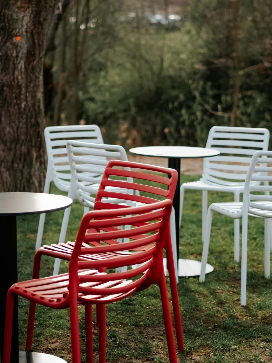
<svg viewBox="0 0 272 363"><path fill-rule="evenodd" d="M158 282L159 276L163 272L163 241L171 209L172 202L166 199L141 207L87 213L82 219L70 260L69 291L77 294L82 292L90 295L112 295L135 291L143 283L149 286L151 283ZM125 225L129 225L130 229L120 229L120 226ZM139 248L141 251L130 253L127 256L122 255L124 244L117 242L119 238L129 239L129 242L125 243L126 250L134 251L135 248ZM85 241L93 247L82 248L82 243ZM112 252L115 253L110 256L109 254ZM105 253L108 254L107 257ZM94 257L90 261L79 261L79 255L82 254L92 254ZM143 262L145 263L142 266L125 272L99 275L84 275L82 272L78 274L78 269L102 268L106 270ZM143 276L140 275L142 273L144 273ZM83 282L107 283L133 277L138 277L138 279L133 282L126 281L117 288L80 286L80 283Z"/></svg>

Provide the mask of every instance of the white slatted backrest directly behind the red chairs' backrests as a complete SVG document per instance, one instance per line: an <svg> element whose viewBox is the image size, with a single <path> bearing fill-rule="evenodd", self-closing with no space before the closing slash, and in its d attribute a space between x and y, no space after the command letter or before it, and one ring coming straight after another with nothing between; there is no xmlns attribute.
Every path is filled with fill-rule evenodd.
<svg viewBox="0 0 272 363"><path fill-rule="evenodd" d="M66 145L71 168L69 194L85 207L93 207L106 165L113 159L127 161L126 151L119 145L100 145L75 140L68 140ZM131 178L127 180L132 182ZM114 199L112 202L121 203L124 200Z"/></svg>

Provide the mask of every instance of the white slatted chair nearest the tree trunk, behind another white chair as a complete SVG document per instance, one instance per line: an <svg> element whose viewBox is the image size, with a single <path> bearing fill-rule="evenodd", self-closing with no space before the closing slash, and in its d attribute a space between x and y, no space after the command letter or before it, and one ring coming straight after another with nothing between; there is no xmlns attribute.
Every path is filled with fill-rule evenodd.
<svg viewBox="0 0 272 363"><path fill-rule="evenodd" d="M56 187L63 192L68 192L70 187L70 165L66 150L67 140L78 140L91 143L103 144L100 128L97 125L73 125L52 126L44 130L47 170L44 185L44 193L50 192L50 183L54 182ZM84 209L84 214L88 209ZM40 215L38 227L36 250L41 247L45 213Z"/></svg>

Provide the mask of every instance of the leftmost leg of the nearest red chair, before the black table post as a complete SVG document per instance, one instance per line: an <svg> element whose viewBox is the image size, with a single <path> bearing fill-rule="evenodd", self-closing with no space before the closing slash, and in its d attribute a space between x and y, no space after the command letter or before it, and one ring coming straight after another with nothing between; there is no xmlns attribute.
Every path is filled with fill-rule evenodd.
<svg viewBox="0 0 272 363"><path fill-rule="evenodd" d="M10 363L14 294L7 293L3 362Z"/></svg>

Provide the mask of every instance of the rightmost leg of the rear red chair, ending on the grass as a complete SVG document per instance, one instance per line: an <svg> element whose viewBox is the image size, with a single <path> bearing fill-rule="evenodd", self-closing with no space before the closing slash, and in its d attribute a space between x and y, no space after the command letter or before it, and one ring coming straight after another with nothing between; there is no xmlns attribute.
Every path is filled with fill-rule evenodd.
<svg viewBox="0 0 272 363"><path fill-rule="evenodd" d="M179 295L178 295L178 288L177 288L177 282L176 282L172 246L167 248L166 256L167 256L167 267L168 267L168 273L169 273L172 305L173 305L174 320L175 320L175 330L176 330L176 336L177 336L177 346L178 346L178 350L184 351L181 315L180 315L180 307L179 307Z"/></svg>

